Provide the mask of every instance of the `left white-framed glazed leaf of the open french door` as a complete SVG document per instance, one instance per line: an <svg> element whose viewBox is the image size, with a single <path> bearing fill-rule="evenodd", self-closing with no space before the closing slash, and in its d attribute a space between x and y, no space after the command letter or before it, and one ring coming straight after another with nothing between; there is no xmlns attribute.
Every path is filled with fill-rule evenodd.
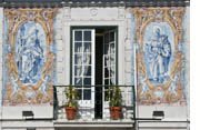
<svg viewBox="0 0 200 130"><path fill-rule="evenodd" d="M82 118L94 118L94 29L73 29L72 83Z"/></svg>

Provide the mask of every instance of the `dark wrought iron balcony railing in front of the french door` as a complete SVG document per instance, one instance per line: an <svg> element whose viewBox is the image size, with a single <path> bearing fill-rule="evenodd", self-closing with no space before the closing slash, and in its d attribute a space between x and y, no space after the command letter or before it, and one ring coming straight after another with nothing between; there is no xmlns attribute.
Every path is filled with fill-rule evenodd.
<svg viewBox="0 0 200 130"><path fill-rule="evenodd" d="M120 117L117 120L131 121L134 119L134 87L133 86L54 86L54 118L68 120L66 104L70 100L69 88L77 92L78 112L72 121L112 121L111 106L120 106ZM68 93L68 94L67 94ZM114 120L114 121L117 121Z"/></svg>

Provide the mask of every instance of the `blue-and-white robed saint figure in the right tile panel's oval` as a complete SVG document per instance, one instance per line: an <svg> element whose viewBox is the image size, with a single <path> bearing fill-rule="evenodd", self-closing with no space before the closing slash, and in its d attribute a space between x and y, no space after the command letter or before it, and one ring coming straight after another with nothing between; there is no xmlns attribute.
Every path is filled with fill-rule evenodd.
<svg viewBox="0 0 200 130"><path fill-rule="evenodd" d="M144 44L148 78L154 83L163 83L169 78L171 59L171 42L166 33L161 33L159 26L153 27L151 37Z"/></svg>

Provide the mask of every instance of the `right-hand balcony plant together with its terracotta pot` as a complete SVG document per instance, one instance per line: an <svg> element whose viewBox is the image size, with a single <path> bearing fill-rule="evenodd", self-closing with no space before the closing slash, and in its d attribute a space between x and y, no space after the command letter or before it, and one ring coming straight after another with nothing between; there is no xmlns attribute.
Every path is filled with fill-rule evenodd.
<svg viewBox="0 0 200 130"><path fill-rule="evenodd" d="M110 88L110 118L113 120L118 120L122 118L122 96L121 90L118 86Z"/></svg>

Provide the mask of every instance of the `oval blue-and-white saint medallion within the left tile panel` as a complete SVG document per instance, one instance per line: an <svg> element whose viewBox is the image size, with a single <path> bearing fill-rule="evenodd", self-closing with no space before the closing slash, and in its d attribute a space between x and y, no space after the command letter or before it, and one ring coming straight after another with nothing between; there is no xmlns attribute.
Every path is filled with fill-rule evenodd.
<svg viewBox="0 0 200 130"><path fill-rule="evenodd" d="M44 63L46 36L42 27L33 21L26 22L18 30L16 62L20 80L36 83Z"/></svg>

